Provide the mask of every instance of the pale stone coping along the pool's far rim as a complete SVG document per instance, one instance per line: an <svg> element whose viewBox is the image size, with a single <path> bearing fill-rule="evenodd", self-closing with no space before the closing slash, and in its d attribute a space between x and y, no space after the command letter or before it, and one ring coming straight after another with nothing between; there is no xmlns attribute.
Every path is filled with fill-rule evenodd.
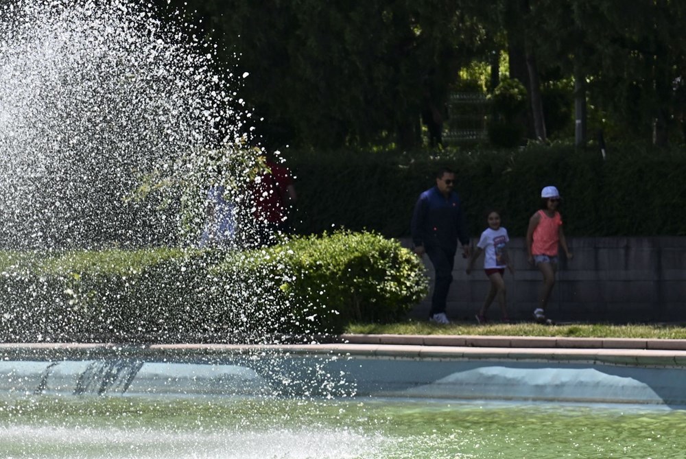
<svg viewBox="0 0 686 459"><path fill-rule="evenodd" d="M342 335L321 344L80 344L0 343L0 358L70 359L145 357L176 360L269 351L292 355L351 355L428 360L599 362L637 366L686 366L686 340L512 336Z"/></svg>

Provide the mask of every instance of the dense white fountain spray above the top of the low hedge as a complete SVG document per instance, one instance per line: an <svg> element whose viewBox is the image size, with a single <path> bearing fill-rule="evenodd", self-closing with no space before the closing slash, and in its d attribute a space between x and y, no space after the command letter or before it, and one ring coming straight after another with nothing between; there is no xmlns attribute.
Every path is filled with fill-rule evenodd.
<svg viewBox="0 0 686 459"><path fill-rule="evenodd" d="M128 0L3 2L0 18L3 245L174 242L173 213L123 198L139 176L243 136L249 114L237 78L213 70L216 46Z"/></svg>

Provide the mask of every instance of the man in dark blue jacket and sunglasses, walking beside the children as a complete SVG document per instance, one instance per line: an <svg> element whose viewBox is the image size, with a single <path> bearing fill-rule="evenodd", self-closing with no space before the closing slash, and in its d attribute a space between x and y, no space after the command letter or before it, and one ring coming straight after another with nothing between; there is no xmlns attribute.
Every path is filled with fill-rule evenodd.
<svg viewBox="0 0 686 459"><path fill-rule="evenodd" d="M453 281L458 239L464 257L469 257L469 235L462 214L462 203L453 191L455 173L444 167L436 174L436 186L419 196L412 214L412 242L420 257L429 256L436 272L429 320L447 324L445 301Z"/></svg>

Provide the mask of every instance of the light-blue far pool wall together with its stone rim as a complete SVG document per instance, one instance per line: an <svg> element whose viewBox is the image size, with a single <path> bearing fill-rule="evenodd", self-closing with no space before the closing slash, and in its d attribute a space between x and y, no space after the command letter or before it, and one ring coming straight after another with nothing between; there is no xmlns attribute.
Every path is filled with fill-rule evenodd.
<svg viewBox="0 0 686 459"><path fill-rule="evenodd" d="M295 387L309 396L323 389L324 397L337 397L340 388L353 391L344 397L686 405L686 351L582 348L581 341L516 347L527 341L512 338L503 338L504 347L345 338L281 345L5 343L0 392L261 397ZM362 338L370 337L353 340ZM377 339L393 342L370 341Z"/></svg>

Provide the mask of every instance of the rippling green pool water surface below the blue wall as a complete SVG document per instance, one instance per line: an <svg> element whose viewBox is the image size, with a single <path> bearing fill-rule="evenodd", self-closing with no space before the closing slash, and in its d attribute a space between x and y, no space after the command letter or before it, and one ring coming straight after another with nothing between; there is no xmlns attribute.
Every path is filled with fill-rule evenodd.
<svg viewBox="0 0 686 459"><path fill-rule="evenodd" d="M426 400L17 397L11 458L677 458L686 411Z"/></svg>

